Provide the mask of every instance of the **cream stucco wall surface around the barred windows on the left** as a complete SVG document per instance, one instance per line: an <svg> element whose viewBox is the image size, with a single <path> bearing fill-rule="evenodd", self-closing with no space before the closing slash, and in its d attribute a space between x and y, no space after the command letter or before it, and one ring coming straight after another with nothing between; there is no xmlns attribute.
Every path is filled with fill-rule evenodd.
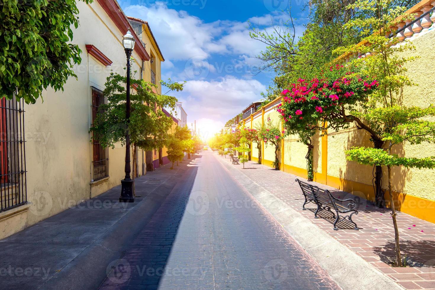
<svg viewBox="0 0 435 290"><path fill-rule="evenodd" d="M74 30L75 44L82 50L82 62L74 68L64 91L43 92L37 103L24 107L27 136L27 200L29 210L9 219L0 216L0 238L97 196L120 184L124 177L125 147L109 150L109 178L92 186L91 86L104 90L111 70L125 74L126 56L121 31L97 1L78 1L80 26ZM93 44L113 63L104 67L88 55L85 45ZM139 60L137 53L133 57ZM141 61L132 63L140 70ZM138 76L137 76L138 77ZM43 100L43 101L42 101ZM141 168L141 158L139 168ZM141 172L141 171L139 171ZM5 212L7 213L7 211Z"/></svg>

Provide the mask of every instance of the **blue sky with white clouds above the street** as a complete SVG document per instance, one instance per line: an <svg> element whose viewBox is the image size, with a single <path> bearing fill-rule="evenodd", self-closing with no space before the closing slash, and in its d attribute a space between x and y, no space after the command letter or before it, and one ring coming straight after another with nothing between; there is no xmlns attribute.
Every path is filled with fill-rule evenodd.
<svg viewBox="0 0 435 290"><path fill-rule="evenodd" d="M303 0L291 3L296 33L303 30ZM255 58L265 45L249 37L248 21L270 29L288 17L288 0L118 0L128 16L148 21L165 57L162 79L186 80L174 93L197 121L201 132L212 134L261 98L273 73L253 76ZM204 136L207 138L210 136Z"/></svg>

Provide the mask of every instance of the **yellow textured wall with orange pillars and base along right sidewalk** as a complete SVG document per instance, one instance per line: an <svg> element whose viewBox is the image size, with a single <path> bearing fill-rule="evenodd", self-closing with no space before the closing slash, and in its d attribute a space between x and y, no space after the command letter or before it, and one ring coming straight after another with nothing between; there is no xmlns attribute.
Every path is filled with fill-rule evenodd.
<svg viewBox="0 0 435 290"><path fill-rule="evenodd" d="M408 10L408 13L427 12L434 6L435 1L423 0ZM418 15L422 15L422 13ZM405 87L404 89L403 102L407 106L427 107L428 104L435 103L435 78L433 77L435 74L433 65L435 63L433 50L433 44L435 43L434 21L435 13L427 15L419 22L421 27L412 26L412 29L421 32L413 32L411 29L408 29L407 32L408 40L412 41L416 50L403 54L405 57L419 57L407 65L408 76L415 83L418 83L418 86ZM399 23L402 27L404 24ZM430 27L431 25L432 27ZM397 28L400 28L400 26ZM343 60L345 58L346 56L343 57ZM257 125L264 124L267 117L270 117L274 123L279 123L280 118L276 106L280 102L281 100L278 98L261 107L257 112L244 119L245 126L255 128ZM373 167L348 161L345 157L345 150L351 147L372 147L368 134L363 130L357 130L355 126L338 132L328 130L327 133L323 137L319 137L319 134L314 137L313 167L315 181L345 190L368 200L374 200ZM307 161L305 155L307 147L298 142L297 136L284 138L281 147L284 150L280 152L280 169L306 178ZM251 146L251 148L252 160L258 160L256 146ZM263 144L262 152L262 163L271 167L274 160L273 147L271 145L265 147ZM398 147L395 153L407 157L431 157L435 156L435 145L428 143L411 145L405 143L403 147ZM435 170L395 167L392 177L396 209L423 220L435 222L435 193L433 190L435 187ZM385 172L382 181L384 185L387 184ZM389 197L387 195L388 193L385 195L388 203Z"/></svg>

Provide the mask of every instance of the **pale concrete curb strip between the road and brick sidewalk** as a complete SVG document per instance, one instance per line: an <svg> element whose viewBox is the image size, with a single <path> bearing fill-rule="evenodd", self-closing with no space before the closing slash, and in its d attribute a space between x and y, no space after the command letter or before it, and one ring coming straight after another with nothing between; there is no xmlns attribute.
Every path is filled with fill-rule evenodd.
<svg viewBox="0 0 435 290"><path fill-rule="evenodd" d="M319 229L298 211L255 183L241 170L224 163L219 156L215 155L215 157L342 289L404 289L356 253Z"/></svg>

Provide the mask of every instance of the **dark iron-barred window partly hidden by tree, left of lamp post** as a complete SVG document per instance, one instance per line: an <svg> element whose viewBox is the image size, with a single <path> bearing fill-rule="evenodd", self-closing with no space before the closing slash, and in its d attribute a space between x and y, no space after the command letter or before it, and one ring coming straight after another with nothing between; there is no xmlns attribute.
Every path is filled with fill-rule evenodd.
<svg viewBox="0 0 435 290"><path fill-rule="evenodd" d="M96 87L91 87L92 89L92 123L94 123L97 118L97 114L104 114L105 110L100 108L101 105L107 104L107 98L104 96L102 90L98 90ZM94 178L93 181L103 179L109 176L109 148L103 148L101 143L98 141L98 136L94 135L92 138L92 150L93 150L93 160L92 164L94 167Z"/></svg>

